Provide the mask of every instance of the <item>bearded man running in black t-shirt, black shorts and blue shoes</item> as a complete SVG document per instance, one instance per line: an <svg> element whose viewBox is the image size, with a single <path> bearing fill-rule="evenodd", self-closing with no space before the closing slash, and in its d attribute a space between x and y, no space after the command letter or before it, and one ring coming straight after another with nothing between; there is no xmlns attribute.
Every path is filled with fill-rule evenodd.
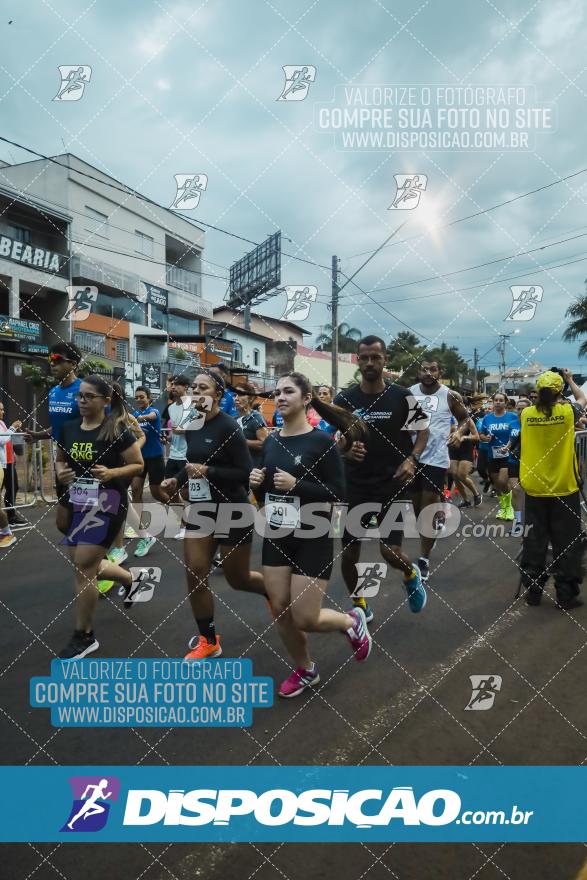
<svg viewBox="0 0 587 880"><path fill-rule="evenodd" d="M410 416L411 395L407 388L384 381L385 352L385 343L378 336L361 339L358 344L361 382L344 389L334 400L337 406L352 410L369 426L366 442L353 443L344 456L347 518L360 504L378 504L381 505L376 513L378 525L392 504L405 502L405 486L414 478L418 456L428 441L428 430L424 429L418 431L416 442L412 443L410 431L405 428ZM375 509L366 513L361 523L366 525L373 513ZM357 586L356 565L361 545L348 529L345 529L342 541L342 574L352 595ZM392 532L386 529L379 541L383 558L404 575L410 609L421 611L426 604L426 591L418 566L402 552L401 530ZM373 612L364 598L353 598L353 602L363 608L368 622L373 620Z"/></svg>

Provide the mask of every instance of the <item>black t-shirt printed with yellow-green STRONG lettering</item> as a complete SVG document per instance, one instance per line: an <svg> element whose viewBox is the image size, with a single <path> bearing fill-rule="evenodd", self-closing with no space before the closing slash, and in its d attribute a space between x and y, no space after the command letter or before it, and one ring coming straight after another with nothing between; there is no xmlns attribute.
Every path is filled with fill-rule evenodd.
<svg viewBox="0 0 587 880"><path fill-rule="evenodd" d="M92 428L91 431L82 429L81 418L71 419L64 422L59 434L59 448L65 454L67 464L75 472L76 477L95 479L92 468L97 464L107 468L117 468L124 465L122 453L129 449L136 438L125 428L114 440L98 439L102 426ZM117 489L126 497L128 480L113 479L108 483L100 484L106 489Z"/></svg>

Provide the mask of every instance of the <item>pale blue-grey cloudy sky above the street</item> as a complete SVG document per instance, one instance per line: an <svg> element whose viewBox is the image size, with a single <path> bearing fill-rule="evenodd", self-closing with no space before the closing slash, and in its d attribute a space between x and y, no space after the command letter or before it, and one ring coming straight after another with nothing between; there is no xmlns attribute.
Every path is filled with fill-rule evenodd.
<svg viewBox="0 0 587 880"><path fill-rule="evenodd" d="M561 178L587 166L586 16L581 0L0 0L0 133L47 155L65 144L164 205L174 174L207 174L189 216L257 242L281 229L282 283L318 287L312 333L329 319L331 256L349 276L407 221L357 275L366 294L341 294L341 321L386 338L407 325L466 359L477 347L486 369L499 334L518 329L509 365L585 372L561 335L587 277L587 173ZM92 67L81 101L52 101L64 64ZM276 100L284 65L316 68L304 100ZM350 149L320 130L335 93L340 106L345 86L384 84L524 87L524 106L550 108L555 124L526 151ZM0 142L0 158L31 156ZM413 173L428 178L418 207L388 210L394 175ZM225 277L247 250L208 231L205 268ZM510 284L544 288L531 321L504 320ZM215 304L225 291L204 279ZM279 316L282 298L261 310Z"/></svg>

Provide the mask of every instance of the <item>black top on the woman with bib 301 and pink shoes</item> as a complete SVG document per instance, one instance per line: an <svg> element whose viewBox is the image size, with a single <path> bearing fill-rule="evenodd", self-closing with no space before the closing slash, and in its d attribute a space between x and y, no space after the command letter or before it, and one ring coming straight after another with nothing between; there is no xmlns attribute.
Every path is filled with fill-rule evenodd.
<svg viewBox="0 0 587 880"><path fill-rule="evenodd" d="M306 434L284 437L270 434L263 444L263 467L265 480L257 497L264 500L265 493L292 494L300 503L315 501L345 501L344 477L340 452L332 438L324 431L313 428ZM295 477L296 485L291 493L275 488L275 469L280 468Z"/></svg>

